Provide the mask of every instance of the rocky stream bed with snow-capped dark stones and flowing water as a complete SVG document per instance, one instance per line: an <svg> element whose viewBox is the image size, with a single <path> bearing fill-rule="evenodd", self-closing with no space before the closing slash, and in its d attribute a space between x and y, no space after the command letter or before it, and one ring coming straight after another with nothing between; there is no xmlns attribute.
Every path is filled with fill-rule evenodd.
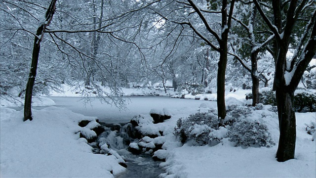
<svg viewBox="0 0 316 178"><path fill-rule="evenodd" d="M153 119L149 122L152 124L171 118L167 113L162 114L155 110L150 114ZM140 125L144 122L148 122L148 119L141 115L135 116L128 123L98 122L99 125L91 129L97 137L87 138L84 133L80 133L80 137L88 140L93 153L114 155L118 159L118 163L127 169L118 178L157 178L164 173L164 170L159 168L159 164L165 161L165 158L160 158L155 152L162 150L165 138L163 131L156 134L143 132ZM88 125L87 121L79 123L80 127Z"/></svg>

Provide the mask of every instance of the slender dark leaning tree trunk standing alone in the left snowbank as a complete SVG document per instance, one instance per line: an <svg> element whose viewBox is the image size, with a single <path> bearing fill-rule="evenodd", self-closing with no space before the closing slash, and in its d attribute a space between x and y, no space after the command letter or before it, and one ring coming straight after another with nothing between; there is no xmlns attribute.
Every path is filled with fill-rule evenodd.
<svg viewBox="0 0 316 178"><path fill-rule="evenodd" d="M49 25L53 15L55 13L56 1L52 0L50 5L46 11L45 21L41 23L40 27L37 30L36 37L34 39L34 47L32 53L32 63L30 69L30 75L28 79L28 83L25 89L25 100L24 100L24 119L23 121L30 120L32 121L32 96L33 96L33 87L36 78L36 72L38 68L39 62L39 54L40 54L40 42L43 39L45 28Z"/></svg>

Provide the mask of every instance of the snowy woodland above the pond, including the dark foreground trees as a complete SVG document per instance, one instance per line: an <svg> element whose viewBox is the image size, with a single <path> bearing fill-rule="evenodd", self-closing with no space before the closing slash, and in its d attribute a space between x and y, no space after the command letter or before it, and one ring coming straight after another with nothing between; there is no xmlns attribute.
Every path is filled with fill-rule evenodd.
<svg viewBox="0 0 316 178"><path fill-rule="evenodd" d="M0 0L0 93L25 98L32 120L32 96L62 84L120 107L122 87L169 80L217 93L223 121L225 89L252 89L255 106L271 87L286 161L294 92L316 88L315 21L315 0Z"/></svg>

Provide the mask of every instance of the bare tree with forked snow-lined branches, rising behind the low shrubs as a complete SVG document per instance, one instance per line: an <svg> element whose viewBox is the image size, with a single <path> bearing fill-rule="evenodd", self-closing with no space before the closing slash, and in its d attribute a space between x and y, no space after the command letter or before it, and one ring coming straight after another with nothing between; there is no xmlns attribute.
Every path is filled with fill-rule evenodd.
<svg viewBox="0 0 316 178"><path fill-rule="evenodd" d="M193 31L199 36L207 45L210 45L215 51L220 53L219 62L218 62L218 71L217 71L217 109L218 109L218 117L221 120L224 120L226 117L226 104L225 104L225 72L228 60L228 34L231 28L233 10L235 0L232 0L229 5L228 0L222 0L221 10L207 10L201 8L195 0L188 0L189 3L182 2L184 6L190 6L194 11L191 13L196 13L204 27L207 29L209 34L203 34L199 31L194 24L189 22L182 22L181 24L187 24ZM221 15L221 30L220 32L216 32L214 27L207 20L206 15L210 14L220 14ZM215 41L218 45L214 44L210 41L207 36L211 35L215 38Z"/></svg>

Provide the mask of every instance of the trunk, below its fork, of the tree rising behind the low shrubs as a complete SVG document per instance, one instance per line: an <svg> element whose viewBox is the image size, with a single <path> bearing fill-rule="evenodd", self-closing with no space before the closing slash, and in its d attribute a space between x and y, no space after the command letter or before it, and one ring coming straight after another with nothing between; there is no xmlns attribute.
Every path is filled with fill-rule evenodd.
<svg viewBox="0 0 316 178"><path fill-rule="evenodd" d="M226 50L225 50L226 49ZM217 71L217 113L221 120L226 117L226 104L225 104L225 72L227 65L227 45L222 48L220 59L218 62Z"/></svg>

